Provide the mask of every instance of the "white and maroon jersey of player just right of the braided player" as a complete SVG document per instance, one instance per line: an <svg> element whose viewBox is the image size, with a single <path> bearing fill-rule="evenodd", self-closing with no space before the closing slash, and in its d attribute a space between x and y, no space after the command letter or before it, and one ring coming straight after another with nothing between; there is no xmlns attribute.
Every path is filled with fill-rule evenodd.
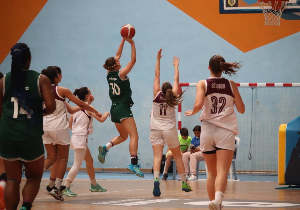
<svg viewBox="0 0 300 210"><path fill-rule="evenodd" d="M69 126L69 118L67 107L64 104L65 97L61 97L57 92L58 85L52 85L52 92L56 102L56 109L51 115L44 116L43 130L44 131L58 131Z"/></svg>

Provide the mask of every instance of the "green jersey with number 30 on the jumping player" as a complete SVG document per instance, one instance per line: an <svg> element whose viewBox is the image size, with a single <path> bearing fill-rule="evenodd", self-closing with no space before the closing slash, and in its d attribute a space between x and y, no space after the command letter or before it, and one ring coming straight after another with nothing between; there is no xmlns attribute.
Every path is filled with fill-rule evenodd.
<svg viewBox="0 0 300 210"><path fill-rule="evenodd" d="M110 71L107 74L107 82L110 87L110 100L113 104L134 104L131 99L131 89L128 76L121 79L119 71Z"/></svg>

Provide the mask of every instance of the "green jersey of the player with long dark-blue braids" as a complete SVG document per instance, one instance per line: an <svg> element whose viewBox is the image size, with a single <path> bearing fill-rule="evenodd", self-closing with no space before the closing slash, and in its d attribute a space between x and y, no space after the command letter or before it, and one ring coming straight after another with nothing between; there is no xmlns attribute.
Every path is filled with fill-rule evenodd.
<svg viewBox="0 0 300 210"><path fill-rule="evenodd" d="M3 115L0 120L0 140L26 140L32 136L42 136L43 131L43 100L41 97L40 73L24 70L24 88L33 97L37 106L35 118L30 119L26 111L13 98L10 89L11 73L4 75L4 97L2 100Z"/></svg>

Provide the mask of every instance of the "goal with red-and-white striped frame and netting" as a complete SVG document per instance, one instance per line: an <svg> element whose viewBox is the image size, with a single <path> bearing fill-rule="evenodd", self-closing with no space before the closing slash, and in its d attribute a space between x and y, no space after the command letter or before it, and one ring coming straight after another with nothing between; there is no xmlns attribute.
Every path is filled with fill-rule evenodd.
<svg viewBox="0 0 300 210"><path fill-rule="evenodd" d="M245 104L245 113L236 110L240 144L235 160L240 173L276 174L278 171L278 129L300 114L300 83L236 83ZM199 116L184 116L192 110L196 83L180 83L184 100L178 106L178 130L201 125Z"/></svg>

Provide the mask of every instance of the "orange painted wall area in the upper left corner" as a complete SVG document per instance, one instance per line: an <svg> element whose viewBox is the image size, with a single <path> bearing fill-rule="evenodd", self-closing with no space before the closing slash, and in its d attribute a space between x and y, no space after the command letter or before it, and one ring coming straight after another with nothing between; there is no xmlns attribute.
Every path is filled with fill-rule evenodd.
<svg viewBox="0 0 300 210"><path fill-rule="evenodd" d="M0 1L0 64L48 0Z"/></svg>

